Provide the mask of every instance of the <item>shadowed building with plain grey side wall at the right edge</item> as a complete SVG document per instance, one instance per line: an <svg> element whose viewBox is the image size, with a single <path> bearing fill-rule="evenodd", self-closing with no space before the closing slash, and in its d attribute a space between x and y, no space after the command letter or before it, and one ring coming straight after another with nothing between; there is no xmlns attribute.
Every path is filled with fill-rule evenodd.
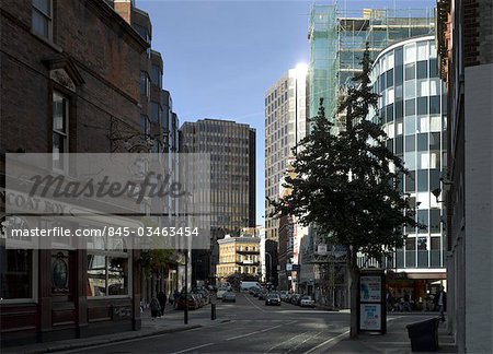
<svg viewBox="0 0 493 354"><path fill-rule="evenodd" d="M447 323L459 353L492 353L493 36L490 0L439 0L447 85Z"/></svg>

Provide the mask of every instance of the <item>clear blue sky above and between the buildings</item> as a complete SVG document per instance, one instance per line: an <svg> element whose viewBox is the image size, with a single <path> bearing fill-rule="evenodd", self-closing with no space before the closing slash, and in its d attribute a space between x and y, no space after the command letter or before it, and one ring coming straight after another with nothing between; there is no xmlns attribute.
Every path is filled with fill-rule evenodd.
<svg viewBox="0 0 493 354"><path fill-rule="evenodd" d="M317 1L333 3L333 1ZM164 61L163 86L180 122L227 119L256 129L256 223L264 215L264 94L286 71L309 62L312 1L136 0L152 22ZM340 9L420 9L436 0L339 0Z"/></svg>

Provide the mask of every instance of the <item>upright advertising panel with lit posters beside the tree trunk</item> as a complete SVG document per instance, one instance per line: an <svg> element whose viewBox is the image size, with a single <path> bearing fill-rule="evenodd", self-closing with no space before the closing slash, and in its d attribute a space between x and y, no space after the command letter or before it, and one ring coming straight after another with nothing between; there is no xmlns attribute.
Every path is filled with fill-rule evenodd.
<svg viewBox="0 0 493 354"><path fill-rule="evenodd" d="M362 270L358 284L358 331L385 334L387 332L387 308L383 270Z"/></svg>

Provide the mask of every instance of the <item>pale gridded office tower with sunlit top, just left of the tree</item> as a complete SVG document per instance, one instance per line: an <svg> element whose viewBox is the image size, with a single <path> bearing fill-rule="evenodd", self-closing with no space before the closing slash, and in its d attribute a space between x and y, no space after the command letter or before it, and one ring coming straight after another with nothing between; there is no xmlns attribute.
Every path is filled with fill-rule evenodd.
<svg viewBox="0 0 493 354"><path fill-rule="evenodd" d="M293 157L291 149L307 134L307 67L290 69L265 94L265 197L277 200ZM265 201L265 238L277 241L279 220L270 217Z"/></svg>

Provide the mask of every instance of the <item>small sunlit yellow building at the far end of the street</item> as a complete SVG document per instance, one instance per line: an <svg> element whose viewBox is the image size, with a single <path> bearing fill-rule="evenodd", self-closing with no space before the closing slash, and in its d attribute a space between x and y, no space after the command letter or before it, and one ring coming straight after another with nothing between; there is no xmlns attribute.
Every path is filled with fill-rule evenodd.
<svg viewBox="0 0 493 354"><path fill-rule="evenodd" d="M257 278L260 266L260 238L254 236L230 236L219 239L217 278L231 275Z"/></svg>

